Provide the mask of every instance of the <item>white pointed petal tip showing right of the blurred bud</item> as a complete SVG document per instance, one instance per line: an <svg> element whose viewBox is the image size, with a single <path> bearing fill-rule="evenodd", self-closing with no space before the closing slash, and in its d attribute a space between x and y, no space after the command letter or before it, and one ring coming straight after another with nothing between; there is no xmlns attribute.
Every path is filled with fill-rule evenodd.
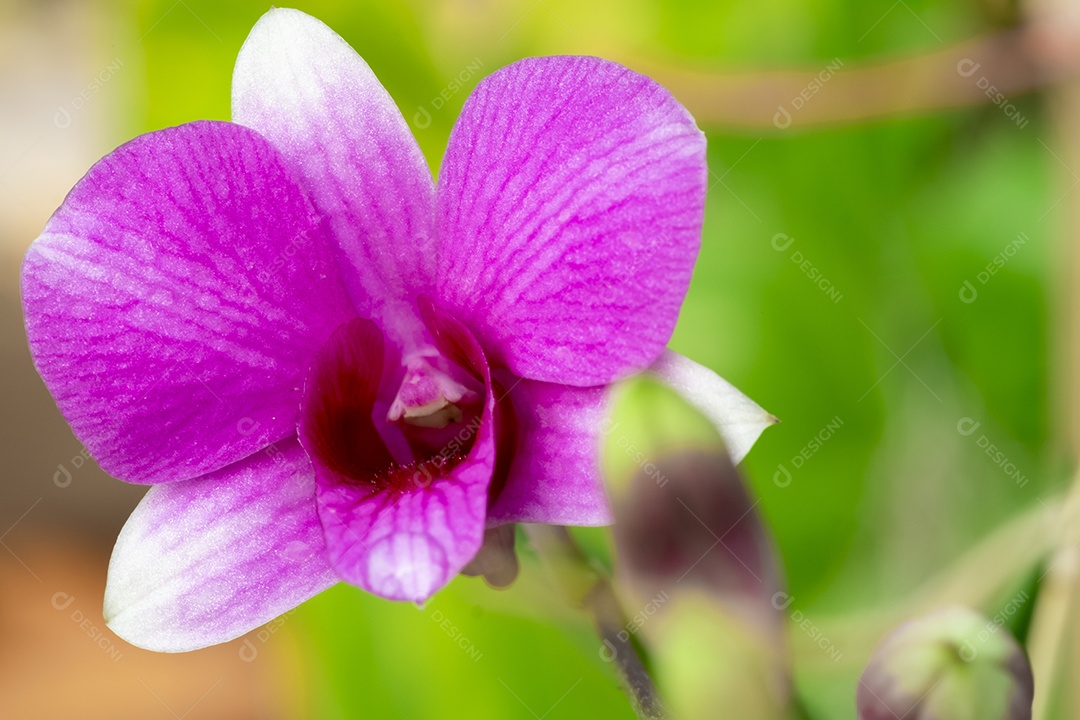
<svg viewBox="0 0 1080 720"><path fill-rule="evenodd" d="M707 367L670 350L649 367L648 373L713 421L734 464L742 462L766 427L780 422Z"/></svg>

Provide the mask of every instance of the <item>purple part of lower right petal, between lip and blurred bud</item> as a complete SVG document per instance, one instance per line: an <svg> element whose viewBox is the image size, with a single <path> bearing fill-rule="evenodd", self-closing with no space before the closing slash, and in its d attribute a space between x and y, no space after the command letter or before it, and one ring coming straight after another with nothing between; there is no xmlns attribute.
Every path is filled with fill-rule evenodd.
<svg viewBox="0 0 1080 720"><path fill-rule="evenodd" d="M488 525L611 522L600 474L602 446L610 426L608 389L521 379L502 384L513 399L517 440L505 486L488 511Z"/></svg>

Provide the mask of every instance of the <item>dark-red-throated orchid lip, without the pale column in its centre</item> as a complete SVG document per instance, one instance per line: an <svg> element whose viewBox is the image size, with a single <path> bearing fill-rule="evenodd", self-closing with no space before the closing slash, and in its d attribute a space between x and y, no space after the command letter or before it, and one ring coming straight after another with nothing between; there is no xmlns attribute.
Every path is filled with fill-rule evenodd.
<svg viewBox="0 0 1080 720"><path fill-rule="evenodd" d="M320 350L300 416L335 571L376 595L417 602L480 549L495 470L495 397L483 351L442 311L427 307L424 315L443 353L487 389L478 421L443 451L400 464L380 449L372 411L384 350L370 321L342 326Z"/></svg>

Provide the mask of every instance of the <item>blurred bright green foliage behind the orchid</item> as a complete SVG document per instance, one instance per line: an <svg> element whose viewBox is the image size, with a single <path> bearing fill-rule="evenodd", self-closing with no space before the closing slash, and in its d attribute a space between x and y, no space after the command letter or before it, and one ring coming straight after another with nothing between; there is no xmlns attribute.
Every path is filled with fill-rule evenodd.
<svg viewBox="0 0 1080 720"><path fill-rule="evenodd" d="M525 55L813 69L935 50L1000 21L945 0L299 6L364 55L436 168L471 87ZM147 99L117 141L228 119L233 59L267 8L126 8ZM814 627L903 598L1062 485L1048 456L1048 305L1063 208L1041 108L1015 101L1025 127L991 105L813 132L705 127L714 182L672 345L783 420L743 471L779 544L788 612ZM961 299L966 281L974 302ZM977 431L958 431L964 419ZM498 595L459 579L419 610L348 587L306 604L294 622L324 698L319 717L631 717L589 627L545 595L527 551L523 573ZM872 628L867 642L889 629ZM854 715L866 654L837 653L800 679L820 717Z"/></svg>

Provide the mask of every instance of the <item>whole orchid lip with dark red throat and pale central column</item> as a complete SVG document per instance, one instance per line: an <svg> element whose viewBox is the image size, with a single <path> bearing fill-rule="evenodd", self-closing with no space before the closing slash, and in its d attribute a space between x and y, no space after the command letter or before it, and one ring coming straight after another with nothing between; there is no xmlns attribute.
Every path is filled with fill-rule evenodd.
<svg viewBox="0 0 1080 720"><path fill-rule="evenodd" d="M343 323L315 353L299 425L334 571L409 601L430 597L480 549L496 459L513 452L499 447L497 393L480 343L430 300L418 305L437 352L426 351L409 372L376 322ZM388 419L391 397L422 417L432 402L447 411L451 395L459 423L417 425L404 408L400 421Z"/></svg>

